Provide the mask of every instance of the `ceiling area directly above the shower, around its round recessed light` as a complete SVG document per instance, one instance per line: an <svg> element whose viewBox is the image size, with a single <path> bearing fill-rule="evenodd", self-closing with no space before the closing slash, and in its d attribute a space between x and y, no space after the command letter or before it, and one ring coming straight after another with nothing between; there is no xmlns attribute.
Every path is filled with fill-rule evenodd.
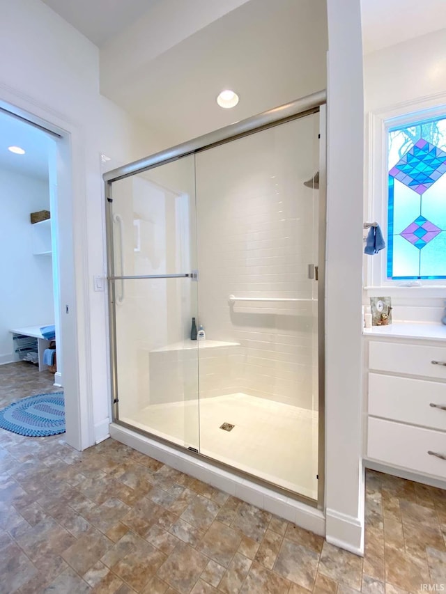
<svg viewBox="0 0 446 594"><path fill-rule="evenodd" d="M327 49L325 0L250 0L121 70L120 84L116 68L101 72L101 92L172 144L326 88ZM225 88L240 96L233 109L215 101Z"/></svg>

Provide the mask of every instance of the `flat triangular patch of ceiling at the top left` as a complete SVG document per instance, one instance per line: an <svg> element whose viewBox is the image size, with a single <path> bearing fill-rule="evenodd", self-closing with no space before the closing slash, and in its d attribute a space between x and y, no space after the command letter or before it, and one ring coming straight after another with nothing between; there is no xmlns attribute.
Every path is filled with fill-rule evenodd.
<svg viewBox="0 0 446 594"><path fill-rule="evenodd" d="M161 0L43 0L98 47Z"/></svg>

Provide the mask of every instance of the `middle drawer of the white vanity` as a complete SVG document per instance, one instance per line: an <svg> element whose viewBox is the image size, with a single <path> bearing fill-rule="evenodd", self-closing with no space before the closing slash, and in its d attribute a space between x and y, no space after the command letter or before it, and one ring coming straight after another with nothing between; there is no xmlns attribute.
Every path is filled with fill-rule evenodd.
<svg viewBox="0 0 446 594"><path fill-rule="evenodd" d="M431 407L431 404L437 406ZM446 431L446 384L369 373L368 412L385 419Z"/></svg>

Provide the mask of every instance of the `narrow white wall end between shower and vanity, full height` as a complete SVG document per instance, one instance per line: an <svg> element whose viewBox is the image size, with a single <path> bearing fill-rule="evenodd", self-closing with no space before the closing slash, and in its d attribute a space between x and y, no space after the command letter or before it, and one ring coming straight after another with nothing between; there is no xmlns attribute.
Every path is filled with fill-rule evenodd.
<svg viewBox="0 0 446 594"><path fill-rule="evenodd" d="M362 554L364 93L360 3L328 0L326 538ZM348 155L348 159L346 159ZM348 311L348 315L344 313Z"/></svg>

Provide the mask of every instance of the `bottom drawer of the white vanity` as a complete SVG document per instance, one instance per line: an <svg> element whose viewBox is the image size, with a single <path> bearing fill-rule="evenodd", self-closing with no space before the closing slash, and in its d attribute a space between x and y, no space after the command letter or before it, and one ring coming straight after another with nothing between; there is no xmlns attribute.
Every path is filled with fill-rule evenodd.
<svg viewBox="0 0 446 594"><path fill-rule="evenodd" d="M367 457L422 474L446 478L446 433L369 417Z"/></svg>

